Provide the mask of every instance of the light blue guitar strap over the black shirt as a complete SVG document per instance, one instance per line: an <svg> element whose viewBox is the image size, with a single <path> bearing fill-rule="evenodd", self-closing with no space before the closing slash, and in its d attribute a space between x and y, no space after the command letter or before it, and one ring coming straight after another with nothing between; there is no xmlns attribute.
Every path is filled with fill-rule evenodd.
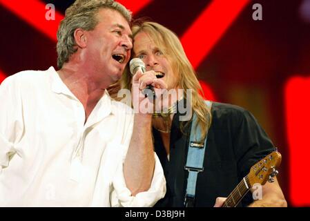
<svg viewBox="0 0 310 221"><path fill-rule="evenodd" d="M205 101L206 106L211 113L212 102ZM194 129L197 125L197 131ZM206 151L206 139L201 143L202 138L200 125L197 124L197 115L193 113L193 122L191 125L191 137L188 143L188 153L186 166L184 169L188 171L186 193L184 198L185 207L193 207L195 202L195 191L198 173L204 171L204 152Z"/></svg>

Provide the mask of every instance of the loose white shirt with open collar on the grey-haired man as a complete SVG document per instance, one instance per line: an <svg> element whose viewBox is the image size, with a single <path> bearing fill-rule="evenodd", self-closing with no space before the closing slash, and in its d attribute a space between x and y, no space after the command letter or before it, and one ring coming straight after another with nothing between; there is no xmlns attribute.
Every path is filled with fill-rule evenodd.
<svg viewBox="0 0 310 221"><path fill-rule="evenodd" d="M27 70L0 86L0 206L153 206L166 181L155 155L151 188L135 197L123 162L133 111L107 91L84 107L54 68Z"/></svg>

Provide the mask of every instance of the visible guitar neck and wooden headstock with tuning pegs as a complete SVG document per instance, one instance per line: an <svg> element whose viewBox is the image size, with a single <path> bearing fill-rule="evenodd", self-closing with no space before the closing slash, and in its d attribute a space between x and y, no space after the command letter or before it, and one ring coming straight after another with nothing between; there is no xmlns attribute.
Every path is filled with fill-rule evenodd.
<svg viewBox="0 0 310 221"><path fill-rule="evenodd" d="M278 171L276 171L275 168L280 166L281 159L281 154L278 151L273 151L252 166L250 173L246 175L231 194L229 194L222 207L237 206L254 184L264 185L267 180L268 182L274 182L273 177L278 175Z"/></svg>

